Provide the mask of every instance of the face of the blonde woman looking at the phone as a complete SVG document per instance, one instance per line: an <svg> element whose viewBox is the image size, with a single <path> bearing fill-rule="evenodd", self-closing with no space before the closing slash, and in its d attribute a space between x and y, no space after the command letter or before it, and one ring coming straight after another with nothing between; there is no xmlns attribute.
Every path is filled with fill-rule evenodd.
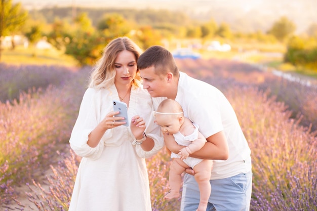
<svg viewBox="0 0 317 211"><path fill-rule="evenodd" d="M137 61L134 54L127 50L120 52L114 61L114 68L114 82L122 85L130 84L137 73Z"/></svg>

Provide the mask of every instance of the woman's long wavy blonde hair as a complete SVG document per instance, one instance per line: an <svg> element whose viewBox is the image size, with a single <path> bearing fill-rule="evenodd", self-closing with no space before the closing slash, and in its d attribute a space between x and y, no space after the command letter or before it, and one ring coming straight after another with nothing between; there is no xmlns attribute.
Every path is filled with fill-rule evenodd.
<svg viewBox="0 0 317 211"><path fill-rule="evenodd" d="M99 59L91 76L89 87L95 89L109 88L114 83L115 67L114 62L117 55L124 51L130 51L134 54L136 62L141 54L141 49L128 37L118 37L110 41L103 50L103 55ZM141 76L139 69L132 81L136 87L141 86Z"/></svg>

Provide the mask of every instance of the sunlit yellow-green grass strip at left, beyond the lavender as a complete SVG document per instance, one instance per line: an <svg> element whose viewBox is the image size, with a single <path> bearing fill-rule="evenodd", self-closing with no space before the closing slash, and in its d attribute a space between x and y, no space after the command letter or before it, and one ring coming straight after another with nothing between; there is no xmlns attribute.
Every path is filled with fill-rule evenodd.
<svg viewBox="0 0 317 211"><path fill-rule="evenodd" d="M1 61L7 64L62 65L77 66L76 60L62 51L52 49L34 49L17 46L14 50L4 49Z"/></svg>

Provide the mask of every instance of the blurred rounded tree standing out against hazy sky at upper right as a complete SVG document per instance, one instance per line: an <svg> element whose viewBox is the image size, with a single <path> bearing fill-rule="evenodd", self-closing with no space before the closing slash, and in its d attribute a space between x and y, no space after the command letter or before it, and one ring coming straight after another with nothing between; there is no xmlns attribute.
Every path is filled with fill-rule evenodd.
<svg viewBox="0 0 317 211"><path fill-rule="evenodd" d="M295 30L296 25L287 17L283 16L273 23L273 26L268 31L268 34L272 34L280 41L285 41L285 39L292 35Z"/></svg>

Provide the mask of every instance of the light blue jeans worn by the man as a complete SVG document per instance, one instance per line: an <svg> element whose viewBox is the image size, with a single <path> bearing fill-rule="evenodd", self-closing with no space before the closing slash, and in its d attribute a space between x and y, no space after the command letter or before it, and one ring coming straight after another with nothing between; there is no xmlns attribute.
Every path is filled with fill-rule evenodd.
<svg viewBox="0 0 317 211"><path fill-rule="evenodd" d="M211 180L211 195L207 211L250 210L252 192L252 172L233 177ZM181 211L195 211L200 200L199 188L195 178L184 176Z"/></svg>

